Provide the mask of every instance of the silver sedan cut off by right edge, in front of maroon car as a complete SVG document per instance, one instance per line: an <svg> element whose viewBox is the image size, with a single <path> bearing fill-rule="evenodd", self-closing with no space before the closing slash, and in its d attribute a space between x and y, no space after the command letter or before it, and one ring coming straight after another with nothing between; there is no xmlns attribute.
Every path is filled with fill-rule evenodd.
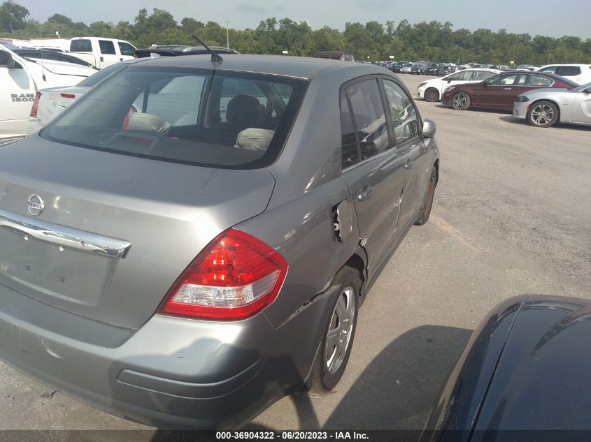
<svg viewBox="0 0 591 442"><path fill-rule="evenodd" d="M574 89L527 91L513 104L513 117L537 127L549 127L557 121L591 125L591 83Z"/></svg>

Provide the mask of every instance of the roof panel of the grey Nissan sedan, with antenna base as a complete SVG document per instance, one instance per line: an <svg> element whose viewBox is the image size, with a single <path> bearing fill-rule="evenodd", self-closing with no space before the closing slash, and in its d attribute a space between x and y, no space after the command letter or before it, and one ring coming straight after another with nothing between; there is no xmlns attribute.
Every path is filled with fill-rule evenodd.
<svg viewBox="0 0 591 442"><path fill-rule="evenodd" d="M311 79L315 73L332 66L365 66L371 72L381 73L383 68L371 64L359 64L353 61L341 61L332 59L320 59L313 57L286 57L280 55L245 55L232 54L232 57L223 57L223 71L255 72L270 75L282 75L285 77ZM211 56L187 55L185 57L160 57L157 59L145 59L138 62L138 66L166 66L175 68L205 68L211 69Z"/></svg>

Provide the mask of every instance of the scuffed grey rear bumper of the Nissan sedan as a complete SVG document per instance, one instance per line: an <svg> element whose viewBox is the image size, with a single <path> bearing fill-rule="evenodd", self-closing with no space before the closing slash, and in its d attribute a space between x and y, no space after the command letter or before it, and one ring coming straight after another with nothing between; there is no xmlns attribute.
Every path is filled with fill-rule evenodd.
<svg viewBox="0 0 591 442"><path fill-rule="evenodd" d="M123 418L161 428L233 428L304 383L322 314L305 309L278 329L264 314L234 323L155 315L126 330L0 285L0 358ZM297 342L301 351L293 350Z"/></svg>

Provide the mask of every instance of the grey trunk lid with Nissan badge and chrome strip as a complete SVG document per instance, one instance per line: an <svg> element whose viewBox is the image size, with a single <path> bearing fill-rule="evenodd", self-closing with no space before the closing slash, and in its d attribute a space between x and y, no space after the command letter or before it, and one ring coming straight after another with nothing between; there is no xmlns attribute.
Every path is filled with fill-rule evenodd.
<svg viewBox="0 0 591 442"><path fill-rule="evenodd" d="M31 135L0 147L0 284L140 327L208 242L264 211L274 184L264 168L202 168Z"/></svg>

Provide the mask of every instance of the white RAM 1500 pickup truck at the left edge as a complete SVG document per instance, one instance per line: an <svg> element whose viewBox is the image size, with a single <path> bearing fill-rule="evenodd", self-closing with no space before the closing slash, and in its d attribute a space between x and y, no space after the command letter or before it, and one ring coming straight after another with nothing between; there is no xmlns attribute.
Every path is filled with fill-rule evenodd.
<svg viewBox="0 0 591 442"><path fill-rule="evenodd" d="M19 57L0 45L0 140L27 135L39 89L73 86L95 72L79 64Z"/></svg>

